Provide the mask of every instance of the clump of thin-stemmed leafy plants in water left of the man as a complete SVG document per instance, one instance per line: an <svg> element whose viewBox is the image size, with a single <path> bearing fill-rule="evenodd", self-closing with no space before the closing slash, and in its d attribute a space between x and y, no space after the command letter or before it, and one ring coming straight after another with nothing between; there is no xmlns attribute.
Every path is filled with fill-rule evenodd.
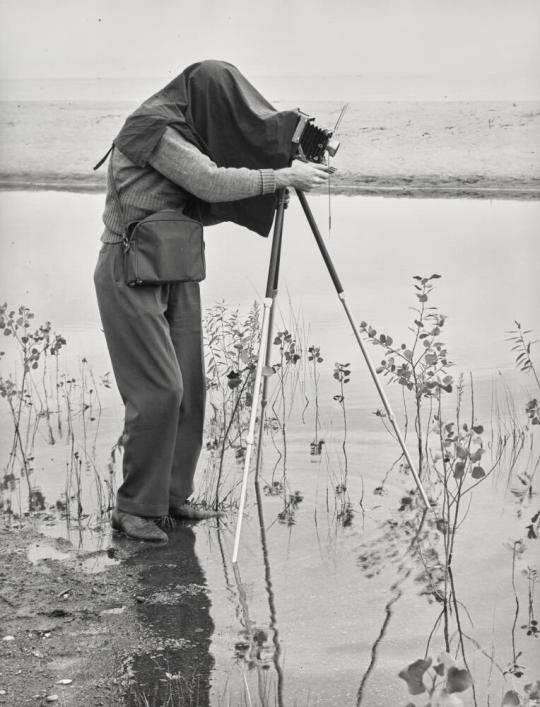
<svg viewBox="0 0 540 707"><path fill-rule="evenodd" d="M68 449L65 490L56 500L56 509L68 522L73 515L82 516L84 472L94 479L97 498L93 509L103 514L111 505L111 494L105 493L111 479L102 479L95 457L101 418L97 388L106 382L106 376L98 383L86 358L80 362L78 378L61 373L66 339L54 332L50 322L35 325L34 319L28 307L0 307L0 330L14 369L7 377L0 377L0 397L7 403L12 423L11 450L0 482L0 491L4 491L0 508L3 504L4 510L13 512L12 497L18 493L19 513L45 510L46 499L34 473L37 464L43 463L35 458L36 447L41 450L43 443L54 446L64 440ZM26 501L21 497L21 479L27 486Z"/></svg>

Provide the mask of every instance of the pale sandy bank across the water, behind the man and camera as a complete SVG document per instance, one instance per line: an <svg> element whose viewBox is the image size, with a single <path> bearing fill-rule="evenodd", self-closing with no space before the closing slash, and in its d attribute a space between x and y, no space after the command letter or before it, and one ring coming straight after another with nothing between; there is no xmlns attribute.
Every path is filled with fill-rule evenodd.
<svg viewBox="0 0 540 707"><path fill-rule="evenodd" d="M3 102L0 189L103 191L106 170L93 166L134 107ZM302 105L321 126L340 108ZM338 137L334 194L540 198L537 102L353 103Z"/></svg>

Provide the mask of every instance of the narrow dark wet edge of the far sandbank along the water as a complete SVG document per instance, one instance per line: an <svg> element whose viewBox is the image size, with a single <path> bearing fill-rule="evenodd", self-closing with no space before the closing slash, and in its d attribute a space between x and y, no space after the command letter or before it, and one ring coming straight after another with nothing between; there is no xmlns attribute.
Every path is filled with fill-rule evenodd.
<svg viewBox="0 0 540 707"><path fill-rule="evenodd" d="M58 173L0 173L0 191L57 191L76 194L105 193L102 175ZM316 189L312 194L327 195ZM419 199L540 200L540 178L483 177L480 175L358 175L332 178L332 196L381 196Z"/></svg>

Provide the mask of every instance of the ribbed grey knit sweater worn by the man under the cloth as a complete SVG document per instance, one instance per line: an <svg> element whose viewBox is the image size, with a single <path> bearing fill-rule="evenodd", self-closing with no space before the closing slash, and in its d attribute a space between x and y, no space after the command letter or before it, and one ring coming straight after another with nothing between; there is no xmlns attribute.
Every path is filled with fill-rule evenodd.
<svg viewBox="0 0 540 707"><path fill-rule="evenodd" d="M122 214L111 188L113 178ZM101 240L120 243L124 223L140 221L162 209L183 208L191 195L219 203L270 194L275 190L272 169L218 167L175 130L167 128L150 158L149 167L139 167L117 148L113 150L107 173L105 231Z"/></svg>

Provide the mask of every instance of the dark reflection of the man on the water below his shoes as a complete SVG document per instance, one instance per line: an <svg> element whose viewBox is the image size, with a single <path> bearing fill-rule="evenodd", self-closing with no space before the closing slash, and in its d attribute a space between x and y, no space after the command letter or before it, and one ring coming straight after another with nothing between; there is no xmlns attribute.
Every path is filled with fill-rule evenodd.
<svg viewBox="0 0 540 707"><path fill-rule="evenodd" d="M144 696L156 705L208 705L214 623L193 529L177 528L169 545L159 552L145 548L126 564L141 572L144 601L137 613L149 632L145 652L133 659L136 686L127 704L140 705Z"/></svg>

